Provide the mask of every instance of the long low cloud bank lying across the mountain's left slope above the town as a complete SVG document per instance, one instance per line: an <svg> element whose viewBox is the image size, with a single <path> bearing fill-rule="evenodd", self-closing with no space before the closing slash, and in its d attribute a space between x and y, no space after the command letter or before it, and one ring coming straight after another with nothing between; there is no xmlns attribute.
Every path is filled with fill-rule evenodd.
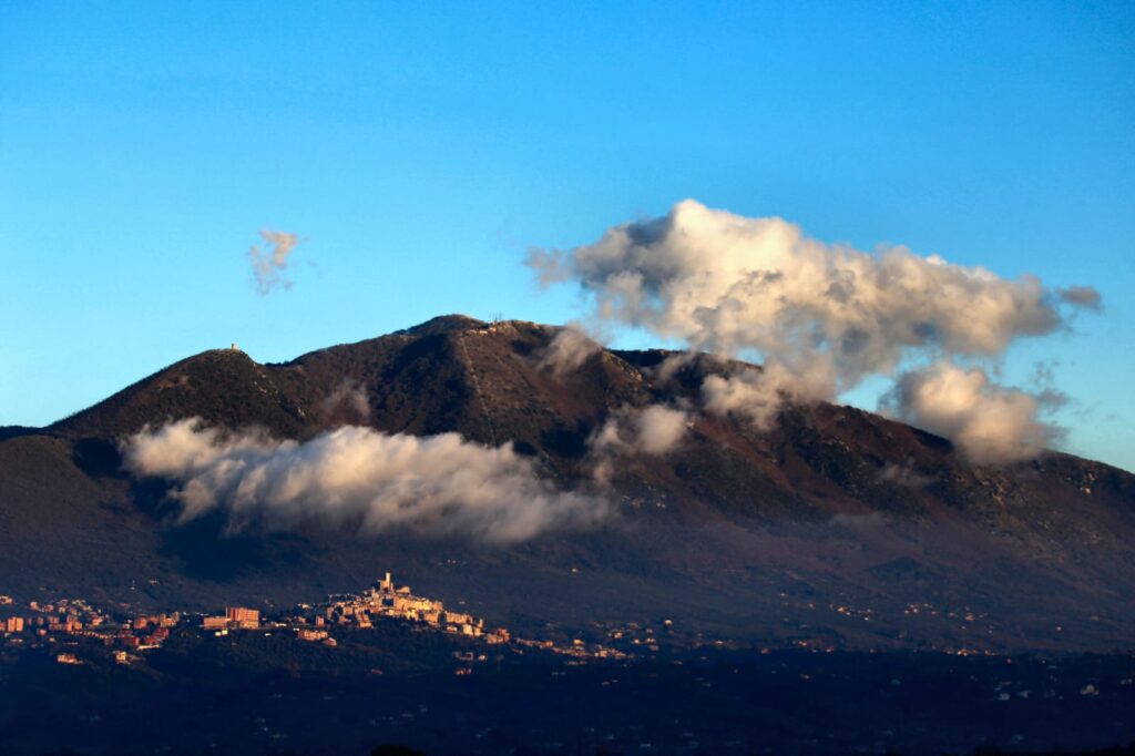
<svg viewBox="0 0 1135 756"><path fill-rule="evenodd" d="M299 443L193 418L148 428L123 452L133 474L175 485L182 521L220 511L230 531L316 523L510 544L594 526L609 512L602 497L555 490L511 446L487 448L457 434L346 426Z"/></svg>

